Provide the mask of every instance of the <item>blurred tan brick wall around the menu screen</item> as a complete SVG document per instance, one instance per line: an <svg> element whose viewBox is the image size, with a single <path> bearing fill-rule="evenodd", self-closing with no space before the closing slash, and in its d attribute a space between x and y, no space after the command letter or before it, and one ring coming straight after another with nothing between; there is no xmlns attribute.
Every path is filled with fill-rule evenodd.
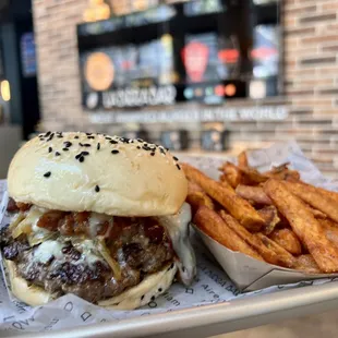
<svg viewBox="0 0 338 338"><path fill-rule="evenodd" d="M118 133L119 125L90 125L80 104L75 25L82 21L87 0L33 3L44 128L104 129ZM283 0L282 7L285 98L232 105L282 102L288 105L290 116L282 122L225 124L232 131L234 147L295 138L323 171L338 177L338 2ZM161 126L152 125L154 138ZM200 125L190 128L196 131ZM197 133L193 136L195 141Z"/></svg>

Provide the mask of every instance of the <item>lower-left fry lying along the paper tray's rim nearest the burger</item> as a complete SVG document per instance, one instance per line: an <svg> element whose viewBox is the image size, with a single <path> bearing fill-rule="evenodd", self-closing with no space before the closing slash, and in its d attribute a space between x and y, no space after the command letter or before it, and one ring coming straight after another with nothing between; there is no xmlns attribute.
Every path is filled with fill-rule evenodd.
<svg viewBox="0 0 338 338"><path fill-rule="evenodd" d="M214 210L202 206L193 219L194 224L207 236L234 252L263 261L262 256L245 243Z"/></svg>

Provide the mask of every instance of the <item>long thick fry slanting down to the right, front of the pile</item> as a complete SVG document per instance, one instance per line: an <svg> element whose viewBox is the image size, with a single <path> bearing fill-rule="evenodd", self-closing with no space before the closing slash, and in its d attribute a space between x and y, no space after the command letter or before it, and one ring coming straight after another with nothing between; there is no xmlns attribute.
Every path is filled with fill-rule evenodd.
<svg viewBox="0 0 338 338"><path fill-rule="evenodd" d="M323 228L306 205L288 191L285 182L271 179L265 183L264 191L289 220L292 230L305 244L321 270L338 271L338 251L326 238Z"/></svg>

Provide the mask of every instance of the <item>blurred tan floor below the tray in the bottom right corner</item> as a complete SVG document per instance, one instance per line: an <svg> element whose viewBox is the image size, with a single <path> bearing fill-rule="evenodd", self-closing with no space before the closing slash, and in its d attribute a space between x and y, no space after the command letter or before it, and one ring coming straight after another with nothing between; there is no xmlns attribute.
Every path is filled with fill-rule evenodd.
<svg viewBox="0 0 338 338"><path fill-rule="evenodd" d="M338 306L338 304L337 304ZM338 337L338 311L300 317L217 338L331 338ZM216 338L216 337L213 337Z"/></svg>

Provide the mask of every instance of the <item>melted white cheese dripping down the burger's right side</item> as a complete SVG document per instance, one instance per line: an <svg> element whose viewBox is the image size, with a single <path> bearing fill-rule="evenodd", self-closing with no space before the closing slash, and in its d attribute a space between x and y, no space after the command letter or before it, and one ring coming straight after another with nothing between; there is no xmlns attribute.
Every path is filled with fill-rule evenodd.
<svg viewBox="0 0 338 338"><path fill-rule="evenodd" d="M177 215L158 217L158 221L167 229L173 250L180 258L178 267L182 282L191 285L196 275L196 258L189 240L190 205L184 203Z"/></svg>

